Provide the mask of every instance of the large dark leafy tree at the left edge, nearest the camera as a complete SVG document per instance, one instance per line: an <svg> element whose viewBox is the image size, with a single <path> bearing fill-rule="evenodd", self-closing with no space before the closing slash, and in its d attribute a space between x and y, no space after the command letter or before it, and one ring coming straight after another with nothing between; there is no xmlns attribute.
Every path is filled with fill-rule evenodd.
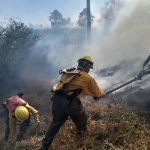
<svg viewBox="0 0 150 150"><path fill-rule="evenodd" d="M36 43L38 38L38 35L31 28L14 19L10 19L8 24L0 27L1 89L6 87L14 76L17 77L19 68L29 52L28 50Z"/></svg>

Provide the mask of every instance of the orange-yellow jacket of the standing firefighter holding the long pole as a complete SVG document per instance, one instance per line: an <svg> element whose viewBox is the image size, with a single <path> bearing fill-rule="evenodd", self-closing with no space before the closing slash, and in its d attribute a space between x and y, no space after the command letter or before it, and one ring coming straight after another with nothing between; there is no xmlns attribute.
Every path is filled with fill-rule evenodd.
<svg viewBox="0 0 150 150"><path fill-rule="evenodd" d="M85 96L102 97L105 95L104 91L98 87L95 79L88 73L79 69L75 69L74 71L78 71L78 75L70 80L69 83L64 85L63 90L66 93L71 90L80 88L82 89L81 94Z"/></svg>

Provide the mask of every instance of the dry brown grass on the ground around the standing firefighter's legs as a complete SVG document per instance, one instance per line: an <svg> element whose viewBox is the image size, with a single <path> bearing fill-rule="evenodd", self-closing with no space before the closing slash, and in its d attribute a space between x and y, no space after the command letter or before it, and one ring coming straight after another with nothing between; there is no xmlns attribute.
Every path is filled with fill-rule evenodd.
<svg viewBox="0 0 150 150"><path fill-rule="evenodd" d="M88 131L85 137L76 137L75 126L68 119L54 139L53 150L150 149L150 125L139 116L136 110L119 103L84 102L84 104L89 115ZM32 127L29 137L16 143L15 150L39 150L43 132L45 133L49 122L50 120L43 119L37 134ZM2 147L3 142L0 144Z"/></svg>

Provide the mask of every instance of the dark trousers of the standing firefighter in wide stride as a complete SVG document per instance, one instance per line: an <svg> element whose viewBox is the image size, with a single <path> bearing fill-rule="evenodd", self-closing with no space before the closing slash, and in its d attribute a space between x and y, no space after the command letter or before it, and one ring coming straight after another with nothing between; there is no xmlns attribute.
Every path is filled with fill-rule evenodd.
<svg viewBox="0 0 150 150"><path fill-rule="evenodd" d="M53 121L48 128L48 131L42 140L41 150L48 150L53 142L55 135L60 127L68 119L72 119L77 127L77 131L85 131L87 125L87 115L81 102L78 99L70 100L65 95L54 95L52 105Z"/></svg>

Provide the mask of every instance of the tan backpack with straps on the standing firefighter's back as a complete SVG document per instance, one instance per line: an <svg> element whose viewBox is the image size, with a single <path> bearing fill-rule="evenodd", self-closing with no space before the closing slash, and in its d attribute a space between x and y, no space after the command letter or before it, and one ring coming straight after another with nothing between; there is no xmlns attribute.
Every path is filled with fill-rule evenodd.
<svg viewBox="0 0 150 150"><path fill-rule="evenodd" d="M65 84L71 82L75 77L80 76L80 70L76 68L60 70L61 77L57 83L53 85L52 92L62 91Z"/></svg>

